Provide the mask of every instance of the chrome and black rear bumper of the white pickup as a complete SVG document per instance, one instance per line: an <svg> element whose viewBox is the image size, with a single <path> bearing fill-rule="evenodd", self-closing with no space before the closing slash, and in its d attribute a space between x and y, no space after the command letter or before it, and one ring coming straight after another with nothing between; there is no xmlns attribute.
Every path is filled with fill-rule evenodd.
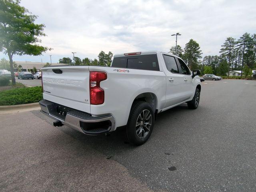
<svg viewBox="0 0 256 192"><path fill-rule="evenodd" d="M115 128L113 116L94 117L86 112L68 108L48 100L39 102L41 112L84 134L96 135L111 132Z"/></svg>

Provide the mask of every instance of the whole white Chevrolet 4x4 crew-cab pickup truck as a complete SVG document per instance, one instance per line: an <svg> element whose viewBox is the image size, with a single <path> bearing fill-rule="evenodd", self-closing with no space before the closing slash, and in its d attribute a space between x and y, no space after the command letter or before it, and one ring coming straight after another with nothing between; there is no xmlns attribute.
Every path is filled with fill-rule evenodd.
<svg viewBox="0 0 256 192"><path fill-rule="evenodd" d="M128 140L140 145L152 133L156 115L184 102L199 104L200 70L160 51L116 54L110 67L42 68L41 111L84 134L126 126Z"/></svg>

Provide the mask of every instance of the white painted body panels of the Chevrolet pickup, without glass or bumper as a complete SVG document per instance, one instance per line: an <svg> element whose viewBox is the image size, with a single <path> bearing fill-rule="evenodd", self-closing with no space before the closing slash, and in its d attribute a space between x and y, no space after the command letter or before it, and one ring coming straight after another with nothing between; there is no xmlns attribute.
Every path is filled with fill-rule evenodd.
<svg viewBox="0 0 256 192"><path fill-rule="evenodd" d="M45 100L90 113L92 116L110 114L116 122L114 130L127 124L132 103L140 94L154 94L157 99L158 112L192 100L196 86L201 84L199 76L192 78L192 74L169 72L162 54L174 56L172 54L160 51L142 52L141 54L157 54L160 71L104 66L42 68L43 97ZM124 55L118 54L114 57L118 56ZM55 74L52 69L61 69L63 73ZM105 100L101 105L90 104L90 71L107 74L107 79L100 82L100 87L105 92ZM170 82L169 78L174 80Z"/></svg>

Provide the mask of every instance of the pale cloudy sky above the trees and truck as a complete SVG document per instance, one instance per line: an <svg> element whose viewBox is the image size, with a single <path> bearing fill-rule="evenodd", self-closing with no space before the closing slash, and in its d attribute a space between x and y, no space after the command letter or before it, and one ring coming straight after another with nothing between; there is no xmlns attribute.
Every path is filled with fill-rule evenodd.
<svg viewBox="0 0 256 192"><path fill-rule="evenodd" d="M202 56L218 55L227 37L256 33L255 0L21 0L45 24L41 56L14 56L14 61L58 62L76 52L79 58L161 50L196 40ZM0 58L8 57L0 53Z"/></svg>

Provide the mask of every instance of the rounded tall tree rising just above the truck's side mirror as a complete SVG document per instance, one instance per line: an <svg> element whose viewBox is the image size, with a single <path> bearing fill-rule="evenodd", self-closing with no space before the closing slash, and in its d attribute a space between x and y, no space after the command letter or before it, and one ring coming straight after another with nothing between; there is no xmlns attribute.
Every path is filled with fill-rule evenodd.
<svg viewBox="0 0 256 192"><path fill-rule="evenodd" d="M200 50L199 44L195 40L190 39L184 48L183 55L183 59L188 64L190 70L198 67L197 62L198 59L202 58L201 54L202 51Z"/></svg>

